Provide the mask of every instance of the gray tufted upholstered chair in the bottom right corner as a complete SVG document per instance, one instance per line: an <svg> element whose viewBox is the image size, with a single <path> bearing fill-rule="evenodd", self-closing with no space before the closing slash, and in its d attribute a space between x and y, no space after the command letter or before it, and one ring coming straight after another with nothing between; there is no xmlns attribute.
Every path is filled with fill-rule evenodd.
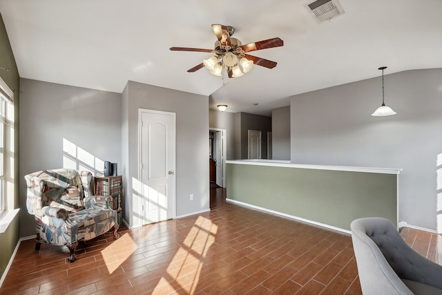
<svg viewBox="0 0 442 295"><path fill-rule="evenodd" d="M364 294L364 287L373 290L377 285L381 289L376 292L383 292L378 294L419 294L416 289L410 291L404 280L430 285L442 293L442 266L414 251L390 220L360 218L350 228Z"/></svg>

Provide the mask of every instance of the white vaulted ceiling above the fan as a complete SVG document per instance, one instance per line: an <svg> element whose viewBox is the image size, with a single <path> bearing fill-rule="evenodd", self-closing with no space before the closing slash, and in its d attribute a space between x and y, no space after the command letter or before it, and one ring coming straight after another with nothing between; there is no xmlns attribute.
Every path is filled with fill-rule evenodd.
<svg viewBox="0 0 442 295"><path fill-rule="evenodd" d="M122 93L128 80L209 97L227 111L270 115L291 95L419 68L442 68L441 0L340 0L345 14L317 23L301 0L1 0L23 78ZM284 46L251 53L278 62L223 83L186 70L210 53L212 23L242 44ZM1 64L0 64L1 66ZM223 85L224 84L224 85ZM258 106L253 103L258 102Z"/></svg>

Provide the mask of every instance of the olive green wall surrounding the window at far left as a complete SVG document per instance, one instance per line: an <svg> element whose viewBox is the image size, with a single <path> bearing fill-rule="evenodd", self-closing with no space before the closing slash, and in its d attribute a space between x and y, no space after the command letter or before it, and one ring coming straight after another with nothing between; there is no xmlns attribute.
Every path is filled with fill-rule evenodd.
<svg viewBox="0 0 442 295"><path fill-rule="evenodd" d="M8 202L8 209L19 208L19 89L20 78L15 64L15 58L12 54L12 48L8 39L5 24L3 23L3 17L0 15L0 67L9 68L9 71L0 69L0 77L3 79L9 88L14 91L14 105L15 105L15 151L14 151L14 191L8 193L8 200L14 199L13 208L11 208L11 202ZM13 195L13 196L12 196ZM5 273L9 260L14 253L15 247L19 242L19 214L12 221L8 229L0 234L0 277Z"/></svg>

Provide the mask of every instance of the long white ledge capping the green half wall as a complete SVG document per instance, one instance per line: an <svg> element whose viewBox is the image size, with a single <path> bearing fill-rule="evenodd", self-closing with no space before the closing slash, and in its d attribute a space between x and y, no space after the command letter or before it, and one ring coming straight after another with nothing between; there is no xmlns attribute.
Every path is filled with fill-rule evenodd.
<svg viewBox="0 0 442 295"><path fill-rule="evenodd" d="M395 169L395 168L371 168L371 167L353 167L353 166L294 164L288 160L287 161L285 161L285 160L228 160L226 162L227 162L227 164L276 166L276 167L289 167L289 168L300 168L300 169L384 173L384 174L399 174L402 171L402 169Z"/></svg>

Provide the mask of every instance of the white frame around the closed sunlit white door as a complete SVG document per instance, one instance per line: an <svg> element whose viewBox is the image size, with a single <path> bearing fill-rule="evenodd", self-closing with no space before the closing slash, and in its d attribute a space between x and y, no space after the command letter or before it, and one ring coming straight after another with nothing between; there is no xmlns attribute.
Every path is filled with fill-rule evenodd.
<svg viewBox="0 0 442 295"><path fill-rule="evenodd" d="M138 108L138 166L137 166L137 174L138 174L138 183L140 184L140 187L138 188L139 194L139 204L142 204L142 196L144 196L144 185L142 184L142 163L141 163L141 145L142 145L142 113L154 113L154 114L160 114L160 115L171 115L172 116L172 171L173 171L173 178L172 178L172 192L173 192L173 198L172 198L172 219L176 219L177 217L177 208L176 208L176 113L173 112L166 112L166 111L157 111L152 110L148 108ZM168 204L169 205L169 204ZM135 210L134 210L135 211ZM147 223L144 222L144 215L143 215L143 208L140 206L139 211L137 212L140 214L140 221L141 225L146 225Z"/></svg>

